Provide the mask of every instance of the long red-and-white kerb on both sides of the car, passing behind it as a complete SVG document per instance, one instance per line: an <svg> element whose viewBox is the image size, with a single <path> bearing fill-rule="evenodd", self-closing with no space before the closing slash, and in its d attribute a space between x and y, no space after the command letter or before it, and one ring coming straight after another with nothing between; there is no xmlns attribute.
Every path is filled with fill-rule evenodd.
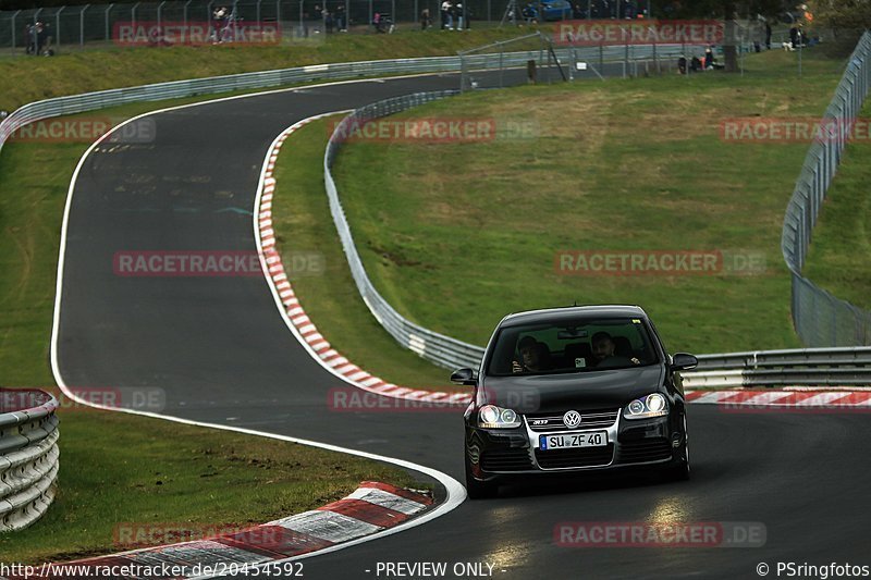
<svg viewBox="0 0 871 580"><path fill-rule="evenodd" d="M338 111L344 112L344 111ZM263 257L263 271L267 272L267 282L272 286L278 299L281 303L281 311L287 325L296 337L308 350L315 360L323 368L351 383L370 393L384 395L388 397L410 399L417 402L437 402L441 404L455 404L457 406L468 405L471 396L468 393L445 393L440 391L428 391L421 388L408 388L397 386L370 374L360 369L347 358L339 354L330 346L327 338L318 332L299 304L299 299L293 292L293 286L287 280L287 273L281 263L281 256L275 248L275 232L272 227L272 198L275 194L275 178L273 176L275 161L284 141L296 129L317 121L324 116L336 114L326 113L311 116L299 121L287 127L272 143L267 152L263 168L263 176L260 183L257 201L255 202L255 237L260 245L261 256ZM686 399L694 404L708 405L728 405L747 407L788 407L812 408L819 406L847 408L847 407L869 407L871 403L871 392L850 391L838 388L811 388L807 391L768 390L768 391L686 391Z"/></svg>

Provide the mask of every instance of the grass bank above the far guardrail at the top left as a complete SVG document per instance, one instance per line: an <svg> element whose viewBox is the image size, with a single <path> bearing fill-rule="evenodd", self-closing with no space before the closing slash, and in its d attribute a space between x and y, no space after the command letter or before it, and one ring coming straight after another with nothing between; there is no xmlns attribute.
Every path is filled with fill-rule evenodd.
<svg viewBox="0 0 871 580"><path fill-rule="evenodd" d="M0 110L93 90L287 69L326 62L455 54L517 29L480 28L464 34L428 30L392 35L332 35L318 45L107 48L50 58L0 60Z"/></svg>

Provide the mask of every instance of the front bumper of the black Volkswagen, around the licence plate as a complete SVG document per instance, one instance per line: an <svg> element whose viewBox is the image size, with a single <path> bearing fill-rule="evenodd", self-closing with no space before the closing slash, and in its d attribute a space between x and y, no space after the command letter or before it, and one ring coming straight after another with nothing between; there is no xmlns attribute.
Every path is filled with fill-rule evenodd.
<svg viewBox="0 0 871 580"><path fill-rule="evenodd" d="M672 414L675 414L673 410ZM539 437L590 430L533 431L526 418L511 430L466 425L466 455L479 480L504 476L611 470L638 466L665 466L685 460L683 420L673 416L626 420L622 414L605 431L608 444L598 447L542 451Z"/></svg>

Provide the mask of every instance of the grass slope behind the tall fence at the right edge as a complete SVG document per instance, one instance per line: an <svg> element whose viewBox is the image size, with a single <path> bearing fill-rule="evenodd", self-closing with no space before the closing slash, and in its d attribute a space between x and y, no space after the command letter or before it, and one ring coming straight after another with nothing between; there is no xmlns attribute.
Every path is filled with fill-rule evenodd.
<svg viewBox="0 0 871 580"><path fill-rule="evenodd" d="M862 119L871 114L866 104ZM836 297L871 309L871 146L860 137L847 146L829 189L810 245L805 276Z"/></svg>

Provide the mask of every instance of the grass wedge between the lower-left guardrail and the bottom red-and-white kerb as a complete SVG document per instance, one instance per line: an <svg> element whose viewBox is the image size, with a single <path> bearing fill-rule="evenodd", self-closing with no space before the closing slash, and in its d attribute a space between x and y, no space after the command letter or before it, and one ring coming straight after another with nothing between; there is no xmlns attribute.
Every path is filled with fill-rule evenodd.
<svg viewBox="0 0 871 580"><path fill-rule="evenodd" d="M139 526L243 529L328 504L366 480L415 484L392 466L294 443L108 411L61 417L58 496L35 526L0 534L0 562L143 547L118 540Z"/></svg>

